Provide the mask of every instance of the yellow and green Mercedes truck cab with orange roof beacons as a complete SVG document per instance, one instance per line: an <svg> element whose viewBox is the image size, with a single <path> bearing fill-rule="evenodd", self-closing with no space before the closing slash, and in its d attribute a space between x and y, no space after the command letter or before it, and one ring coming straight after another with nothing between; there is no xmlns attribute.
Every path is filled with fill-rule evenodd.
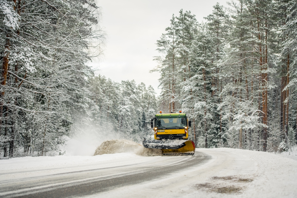
<svg viewBox="0 0 297 198"><path fill-rule="evenodd" d="M188 139L188 129L191 121L188 121L185 113L160 113L151 119L151 128L154 130L154 139Z"/></svg>

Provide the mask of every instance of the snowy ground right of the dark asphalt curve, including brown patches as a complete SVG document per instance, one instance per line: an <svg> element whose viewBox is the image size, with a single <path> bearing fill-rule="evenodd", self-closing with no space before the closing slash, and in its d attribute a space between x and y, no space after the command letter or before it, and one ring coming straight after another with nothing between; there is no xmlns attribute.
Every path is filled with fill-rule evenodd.
<svg viewBox="0 0 297 198"><path fill-rule="evenodd" d="M208 163L106 197L297 197L297 161L273 153L213 148ZM160 193L162 189L162 193ZM97 197L97 195L93 196Z"/></svg>

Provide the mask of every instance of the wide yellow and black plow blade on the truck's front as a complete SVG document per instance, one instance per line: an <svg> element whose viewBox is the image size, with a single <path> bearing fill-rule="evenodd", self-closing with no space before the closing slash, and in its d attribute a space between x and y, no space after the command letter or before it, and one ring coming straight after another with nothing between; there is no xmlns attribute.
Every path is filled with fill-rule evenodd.
<svg viewBox="0 0 297 198"><path fill-rule="evenodd" d="M143 140L145 148L161 149L163 155L194 155L195 144L192 140Z"/></svg>

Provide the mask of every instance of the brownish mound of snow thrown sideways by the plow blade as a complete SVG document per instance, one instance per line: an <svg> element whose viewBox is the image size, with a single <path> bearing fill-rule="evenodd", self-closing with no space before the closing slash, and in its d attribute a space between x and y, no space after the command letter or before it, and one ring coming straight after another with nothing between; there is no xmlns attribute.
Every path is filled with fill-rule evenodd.
<svg viewBox="0 0 297 198"><path fill-rule="evenodd" d="M144 148L142 145L130 140L107 140L97 147L94 155L113 153L135 153L140 156L161 155L161 149Z"/></svg>

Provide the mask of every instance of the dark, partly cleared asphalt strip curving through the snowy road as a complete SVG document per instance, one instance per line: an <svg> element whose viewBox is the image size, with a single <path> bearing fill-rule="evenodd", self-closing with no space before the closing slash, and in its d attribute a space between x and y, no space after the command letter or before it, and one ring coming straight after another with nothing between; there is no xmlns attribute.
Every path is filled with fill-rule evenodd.
<svg viewBox="0 0 297 198"><path fill-rule="evenodd" d="M192 166L199 166L206 163L211 156L196 152L194 156L180 157L176 162L171 164L166 163L168 157L164 156L164 165L133 165L130 167L114 167L110 170L97 169L90 171L69 172L61 174L51 175L50 184L42 185L38 181L42 181L42 178L30 178L27 182L32 183L29 188L16 189L16 186L7 186L6 192L0 193L3 197L81 197L90 194L96 194L103 191L109 191L122 186L133 185L142 183L145 181L151 181L170 175L173 172L186 170ZM105 171L105 174L103 172ZM106 174L108 172L108 174ZM90 175L95 177L91 177ZM55 182L55 178L58 177ZM96 177L97 176L97 177ZM63 181L65 178L66 182ZM39 185L36 185L36 184ZM27 183L28 184L28 183ZM34 186L34 184L36 186ZM29 185L30 186L30 185ZM2 197L1 196L1 197Z"/></svg>

